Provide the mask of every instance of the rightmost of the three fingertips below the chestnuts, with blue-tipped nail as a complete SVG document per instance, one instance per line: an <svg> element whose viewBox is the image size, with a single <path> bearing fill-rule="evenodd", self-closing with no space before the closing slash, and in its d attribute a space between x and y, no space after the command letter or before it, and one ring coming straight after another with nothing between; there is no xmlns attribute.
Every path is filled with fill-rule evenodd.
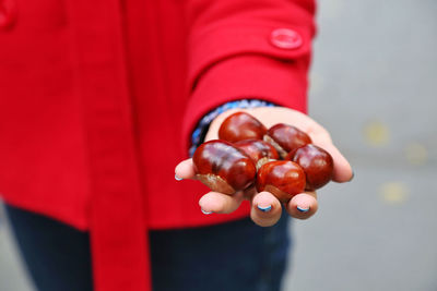
<svg viewBox="0 0 437 291"><path fill-rule="evenodd" d="M286 210L294 218L307 219L316 214L318 207L316 192L306 192L295 195L288 202Z"/></svg>

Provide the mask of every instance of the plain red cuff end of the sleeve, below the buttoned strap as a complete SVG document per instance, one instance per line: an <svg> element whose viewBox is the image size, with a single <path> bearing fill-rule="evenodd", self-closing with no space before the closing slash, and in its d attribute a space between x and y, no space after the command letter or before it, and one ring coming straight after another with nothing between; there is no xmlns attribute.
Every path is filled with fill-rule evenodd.
<svg viewBox="0 0 437 291"><path fill-rule="evenodd" d="M224 102L253 98L306 112L308 61L249 54L211 66L197 82L187 106L182 125L186 153L199 120Z"/></svg>

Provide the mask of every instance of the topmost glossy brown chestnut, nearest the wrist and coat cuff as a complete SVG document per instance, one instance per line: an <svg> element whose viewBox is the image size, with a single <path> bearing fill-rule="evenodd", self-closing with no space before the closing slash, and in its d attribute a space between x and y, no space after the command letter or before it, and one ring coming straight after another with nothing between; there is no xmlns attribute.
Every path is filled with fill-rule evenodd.
<svg viewBox="0 0 437 291"><path fill-rule="evenodd" d="M218 138L235 143L243 140L262 140L267 128L255 117L236 112L228 116L218 129Z"/></svg>

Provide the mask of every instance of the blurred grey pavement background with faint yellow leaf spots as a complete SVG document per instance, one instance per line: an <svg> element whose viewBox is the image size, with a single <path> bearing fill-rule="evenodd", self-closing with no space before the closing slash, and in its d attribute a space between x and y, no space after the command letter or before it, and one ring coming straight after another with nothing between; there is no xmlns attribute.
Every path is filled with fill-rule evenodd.
<svg viewBox="0 0 437 291"><path fill-rule="evenodd" d="M284 290L437 290L437 1L321 0L310 116L355 171L294 221ZM0 208L0 290L31 291Z"/></svg>

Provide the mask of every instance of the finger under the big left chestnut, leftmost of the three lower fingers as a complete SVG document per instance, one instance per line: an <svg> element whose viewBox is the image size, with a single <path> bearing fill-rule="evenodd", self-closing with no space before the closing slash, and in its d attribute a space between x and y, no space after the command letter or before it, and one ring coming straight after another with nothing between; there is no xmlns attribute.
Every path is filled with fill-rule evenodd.
<svg viewBox="0 0 437 291"><path fill-rule="evenodd" d="M199 205L205 214L231 214L239 207L243 199L243 192L237 192L234 195L209 192L200 198Z"/></svg>

